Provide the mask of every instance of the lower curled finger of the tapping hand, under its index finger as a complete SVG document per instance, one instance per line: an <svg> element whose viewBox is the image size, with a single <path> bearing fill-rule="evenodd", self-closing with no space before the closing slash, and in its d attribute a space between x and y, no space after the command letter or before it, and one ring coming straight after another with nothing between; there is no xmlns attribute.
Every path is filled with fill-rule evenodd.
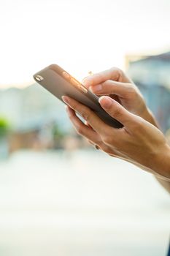
<svg viewBox="0 0 170 256"><path fill-rule="evenodd" d="M117 81L107 80L104 83L100 83L96 86L90 86L90 90L94 94L98 95L110 95L115 94L119 97L126 97L127 94L134 91L134 87L131 83L121 83Z"/></svg>

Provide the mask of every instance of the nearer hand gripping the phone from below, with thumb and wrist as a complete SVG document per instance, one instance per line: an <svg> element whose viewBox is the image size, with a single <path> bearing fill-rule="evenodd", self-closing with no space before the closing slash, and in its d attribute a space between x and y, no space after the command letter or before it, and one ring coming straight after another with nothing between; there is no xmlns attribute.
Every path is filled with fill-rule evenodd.
<svg viewBox="0 0 170 256"><path fill-rule="evenodd" d="M68 113L77 132L113 157L138 164L158 177L170 181L170 148L162 132L143 118L125 110L110 97L101 97L99 103L110 116L124 125L121 129L109 127L92 110L74 99L63 96L69 105ZM90 125L87 126L77 113Z"/></svg>

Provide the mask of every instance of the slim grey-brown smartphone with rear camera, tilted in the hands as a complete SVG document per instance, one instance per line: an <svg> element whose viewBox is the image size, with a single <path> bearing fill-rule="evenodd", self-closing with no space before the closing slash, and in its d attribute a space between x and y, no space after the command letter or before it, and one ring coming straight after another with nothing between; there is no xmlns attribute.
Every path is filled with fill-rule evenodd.
<svg viewBox="0 0 170 256"><path fill-rule="evenodd" d="M63 95L69 96L93 110L94 113L106 124L109 124L109 126L115 128L123 127L119 121L109 116L109 114L101 108L96 94L93 94L85 88L85 86L58 65L52 64L36 72L34 80L61 101L63 101Z"/></svg>

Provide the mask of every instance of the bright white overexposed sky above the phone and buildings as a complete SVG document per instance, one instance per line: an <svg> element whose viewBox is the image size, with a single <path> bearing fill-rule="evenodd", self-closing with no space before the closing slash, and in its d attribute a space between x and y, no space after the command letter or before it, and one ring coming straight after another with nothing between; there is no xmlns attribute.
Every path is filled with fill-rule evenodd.
<svg viewBox="0 0 170 256"><path fill-rule="evenodd" d="M0 86L56 63L78 79L170 48L169 0L0 1Z"/></svg>

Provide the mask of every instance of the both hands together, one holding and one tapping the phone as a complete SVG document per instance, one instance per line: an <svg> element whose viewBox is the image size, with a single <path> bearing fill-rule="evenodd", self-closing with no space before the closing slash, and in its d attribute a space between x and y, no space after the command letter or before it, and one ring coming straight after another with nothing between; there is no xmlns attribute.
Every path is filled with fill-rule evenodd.
<svg viewBox="0 0 170 256"><path fill-rule="evenodd" d="M90 108L63 96L77 132L112 157L124 159L170 181L169 145L134 83L120 69L112 68L85 78L82 84L101 96L101 108L124 127L109 127Z"/></svg>

